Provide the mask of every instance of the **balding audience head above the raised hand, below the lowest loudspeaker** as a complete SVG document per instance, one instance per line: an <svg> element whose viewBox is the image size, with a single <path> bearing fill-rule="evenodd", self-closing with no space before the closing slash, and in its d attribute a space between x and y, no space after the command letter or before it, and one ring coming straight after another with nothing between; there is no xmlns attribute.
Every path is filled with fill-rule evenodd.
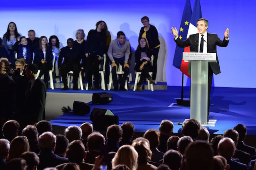
<svg viewBox="0 0 256 170"><path fill-rule="evenodd" d="M105 138L99 132L92 132L87 138L87 148L89 152L100 151L100 149L104 145L105 145Z"/></svg>

